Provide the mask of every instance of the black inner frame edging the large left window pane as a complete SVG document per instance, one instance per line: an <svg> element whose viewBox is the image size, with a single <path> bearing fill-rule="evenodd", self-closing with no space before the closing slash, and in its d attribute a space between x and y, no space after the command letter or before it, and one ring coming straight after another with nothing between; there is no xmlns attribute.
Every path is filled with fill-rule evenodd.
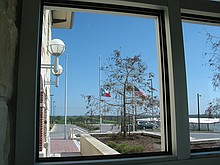
<svg viewBox="0 0 220 165"><path fill-rule="evenodd" d="M158 33L159 33L159 47L161 49L160 59L158 59L158 64L160 63L162 71L161 71L161 81L163 84L163 93L165 95L161 96L163 100L164 107L161 109L164 111L163 121L164 121L164 130L165 134L164 144L165 151L161 152L150 152L150 153L139 153L139 154L124 154L124 155L103 155L103 156L81 156L81 157L52 157L52 158L39 158L39 113L37 113L37 128L36 128L36 161L37 162L51 162L51 161L83 161L83 160L95 160L95 159L121 159L121 158L138 158L138 157L149 157L149 156L162 156L162 155L171 155L172 154L172 139L171 139L171 119L170 119L170 95L169 95L169 76L168 76L168 62L167 62L167 48L166 48L166 33L165 33L165 18L164 18L164 10L158 9L150 9L150 8L142 8L142 7L131 7L131 6L121 6L121 5L113 5L113 4L102 4L102 3L91 3L91 2L78 2L78 1L53 1L46 0L42 3L42 9L46 6L50 7L61 7L61 8L73 8L73 9L83 9L83 10L94 10L94 11L108 11L108 12L117 12L117 13L127 13L136 14L136 15L146 15L157 17L158 19ZM41 18L43 17L43 10L41 12ZM42 21L41 21L42 23ZM41 25L42 27L42 25ZM39 47L41 47L41 43L39 43ZM39 55L40 57L41 55ZM40 60L40 58L39 58ZM40 65L40 61L39 61ZM40 66L39 66L40 69ZM39 71L40 73L40 71ZM39 84L39 81L38 81ZM39 91L39 90L38 90ZM38 94L39 96L39 94ZM39 111L38 111L39 112Z"/></svg>

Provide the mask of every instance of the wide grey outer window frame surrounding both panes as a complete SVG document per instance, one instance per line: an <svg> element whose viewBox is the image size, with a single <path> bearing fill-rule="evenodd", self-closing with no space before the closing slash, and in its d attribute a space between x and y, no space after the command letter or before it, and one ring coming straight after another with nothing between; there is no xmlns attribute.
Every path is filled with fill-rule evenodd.
<svg viewBox="0 0 220 165"><path fill-rule="evenodd" d="M78 0L80 2L80 0ZM44 0L44 2L59 2L61 0ZM66 2L66 1L65 1ZM64 2L64 3L65 3ZM98 0L88 2L100 3ZM220 17L220 3L209 0L108 0L103 4L120 4L164 10L165 34L167 45L167 72L169 76L170 119L172 154L152 157L105 159L68 162L36 162L36 109L38 109L38 89L41 43L42 3L41 0L23 0L21 31L19 40L18 91L16 114L16 143L15 164L178 164L187 161L187 164L211 163L219 161L219 154L211 159L191 159L189 141L188 102L186 87L185 58L182 38L181 12L195 12L203 15L217 15ZM165 43L163 43L165 44ZM27 76L28 75L28 76ZM28 132L28 134L27 134ZM201 156L201 155L200 155Z"/></svg>

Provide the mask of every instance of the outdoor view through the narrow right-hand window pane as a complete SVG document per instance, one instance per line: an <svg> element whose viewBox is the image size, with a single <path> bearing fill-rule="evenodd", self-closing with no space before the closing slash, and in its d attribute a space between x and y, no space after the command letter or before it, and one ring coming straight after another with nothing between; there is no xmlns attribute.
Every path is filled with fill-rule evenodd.
<svg viewBox="0 0 220 165"><path fill-rule="evenodd" d="M219 26L183 23L192 151L220 147L219 32Z"/></svg>

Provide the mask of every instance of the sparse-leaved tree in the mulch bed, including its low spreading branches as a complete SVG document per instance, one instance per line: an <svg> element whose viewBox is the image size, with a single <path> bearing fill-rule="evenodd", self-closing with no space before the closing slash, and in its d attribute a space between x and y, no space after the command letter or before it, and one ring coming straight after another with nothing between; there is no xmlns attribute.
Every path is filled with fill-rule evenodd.
<svg viewBox="0 0 220 165"><path fill-rule="evenodd" d="M147 73L147 65L142 61L140 55L123 58L121 52L115 50L112 56L107 59L106 64L101 67L101 70L107 75L106 80L103 81L103 88L111 91L112 99L110 101L100 100L95 96L82 95L87 102L87 113L94 113L100 109L99 106L101 109L107 107L108 111L115 111L117 116L118 112L121 112L121 132L124 136L127 134L126 125L128 122L130 124L130 115L134 106L142 110L142 114L149 114L152 109L155 110L155 114L158 113L158 97L146 94L156 90L149 82L149 79L154 78L154 74Z"/></svg>

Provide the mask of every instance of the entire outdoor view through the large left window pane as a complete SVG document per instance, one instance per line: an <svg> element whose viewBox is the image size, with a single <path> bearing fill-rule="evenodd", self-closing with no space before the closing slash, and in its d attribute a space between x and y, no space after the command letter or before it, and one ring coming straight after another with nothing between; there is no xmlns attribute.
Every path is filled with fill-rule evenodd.
<svg viewBox="0 0 220 165"><path fill-rule="evenodd" d="M44 10L39 156L165 151L158 18Z"/></svg>

